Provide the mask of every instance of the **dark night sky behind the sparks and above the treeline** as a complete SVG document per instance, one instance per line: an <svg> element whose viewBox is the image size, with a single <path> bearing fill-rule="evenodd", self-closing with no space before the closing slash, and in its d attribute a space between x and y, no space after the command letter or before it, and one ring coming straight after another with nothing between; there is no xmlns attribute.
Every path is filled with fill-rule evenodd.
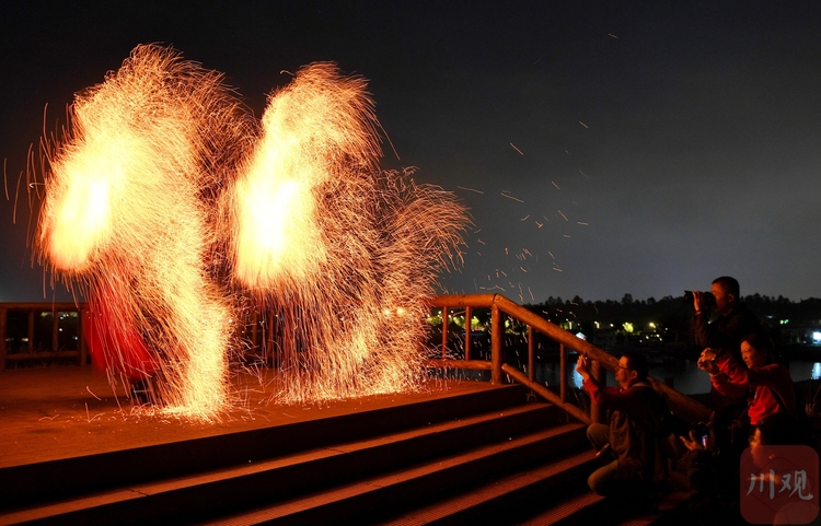
<svg viewBox="0 0 821 526"><path fill-rule="evenodd" d="M12 223L30 147L144 43L257 115L282 70L369 79L384 167L471 208L451 292L660 299L730 274L819 297L820 23L791 1L0 2L0 301L55 296L24 188Z"/></svg>

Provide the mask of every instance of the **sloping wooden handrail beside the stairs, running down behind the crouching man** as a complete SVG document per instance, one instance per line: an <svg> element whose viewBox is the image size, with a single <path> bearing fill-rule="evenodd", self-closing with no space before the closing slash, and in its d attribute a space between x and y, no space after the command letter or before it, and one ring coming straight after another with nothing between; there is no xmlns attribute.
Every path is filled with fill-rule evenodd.
<svg viewBox="0 0 821 526"><path fill-rule="evenodd" d="M490 369L490 381L493 383L501 383L502 371L517 382L527 385L529 388L548 399L551 402L558 405L574 418L589 422L588 417L578 407L564 401L564 396L556 396L550 389L540 386L533 382L532 377L528 377L524 373L516 369L510 364L502 364L502 338L501 338L501 315L504 313L511 316L519 322L528 325L529 328L533 328L558 342L564 351L564 348L574 349L577 352L586 354L588 358L598 361L608 371L615 371L618 360L604 352L602 349L593 346L592 343L578 338L570 332L566 331L562 327L547 322L542 316L528 311L523 306L514 303L501 294L461 294L461 295L440 295L436 296L430 301L431 307L442 307L443 316L442 324L447 326L447 308L451 307L471 307L471 308L489 308L492 317L492 344L490 344L490 364L487 365L486 361L479 360L446 360L444 359L444 346L447 341L442 341L442 360L431 360L430 363L433 366L446 366L446 367L462 367L462 369ZM467 322L470 324L470 320ZM470 325L466 331L470 331ZM530 332L529 332L530 334ZM532 339L532 338L531 338ZM529 344L529 363L533 363L533 346ZM482 366L477 366L482 363ZM532 366L532 365L531 365ZM532 372L531 372L532 374ZM648 376L648 381L652 387L659 391L664 398L667 398L670 409L678 416L691 421L698 422L705 421L709 417L709 408L689 396L675 390L668 386L663 382ZM560 393L566 391L567 386L565 385L565 378L562 378L562 385L559 386Z"/></svg>

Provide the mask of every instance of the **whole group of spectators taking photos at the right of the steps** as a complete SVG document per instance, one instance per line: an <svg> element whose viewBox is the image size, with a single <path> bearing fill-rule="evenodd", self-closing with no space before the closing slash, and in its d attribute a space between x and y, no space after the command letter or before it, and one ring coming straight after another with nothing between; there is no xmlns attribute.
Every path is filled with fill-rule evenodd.
<svg viewBox="0 0 821 526"><path fill-rule="evenodd" d="M593 377L587 356L579 356L582 389L610 413L608 424L588 428L588 439L604 461L588 479L594 492L617 496L634 509L655 510L675 487L672 475L678 468L683 474L680 483L695 490L687 507L690 524L747 524L740 512L742 454L772 461L772 446L809 443L789 369L776 360L772 340L740 301L739 289L736 279L720 277L709 292L692 293L697 365L712 383L707 422L693 425L672 416L647 381L641 353L627 351L620 358L614 371L618 385L610 387ZM814 479L811 484L817 484Z"/></svg>

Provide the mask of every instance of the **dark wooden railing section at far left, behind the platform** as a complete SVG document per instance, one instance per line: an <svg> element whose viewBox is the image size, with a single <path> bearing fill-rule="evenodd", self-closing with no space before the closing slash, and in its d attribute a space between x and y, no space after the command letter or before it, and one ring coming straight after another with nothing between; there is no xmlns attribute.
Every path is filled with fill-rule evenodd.
<svg viewBox="0 0 821 526"><path fill-rule="evenodd" d="M84 365L83 308L83 303L0 303L0 371L21 360L76 358Z"/></svg>

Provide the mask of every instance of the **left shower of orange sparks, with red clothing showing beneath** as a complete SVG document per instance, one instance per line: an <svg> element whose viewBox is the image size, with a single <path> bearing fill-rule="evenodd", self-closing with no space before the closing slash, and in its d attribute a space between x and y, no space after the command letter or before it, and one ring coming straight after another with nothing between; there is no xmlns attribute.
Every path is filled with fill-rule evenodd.
<svg viewBox="0 0 821 526"><path fill-rule="evenodd" d="M166 411L195 418L226 404L232 314L207 262L209 196L251 129L243 115L221 75L140 46L77 95L50 149L41 258L85 292L95 359L153 377Z"/></svg>

